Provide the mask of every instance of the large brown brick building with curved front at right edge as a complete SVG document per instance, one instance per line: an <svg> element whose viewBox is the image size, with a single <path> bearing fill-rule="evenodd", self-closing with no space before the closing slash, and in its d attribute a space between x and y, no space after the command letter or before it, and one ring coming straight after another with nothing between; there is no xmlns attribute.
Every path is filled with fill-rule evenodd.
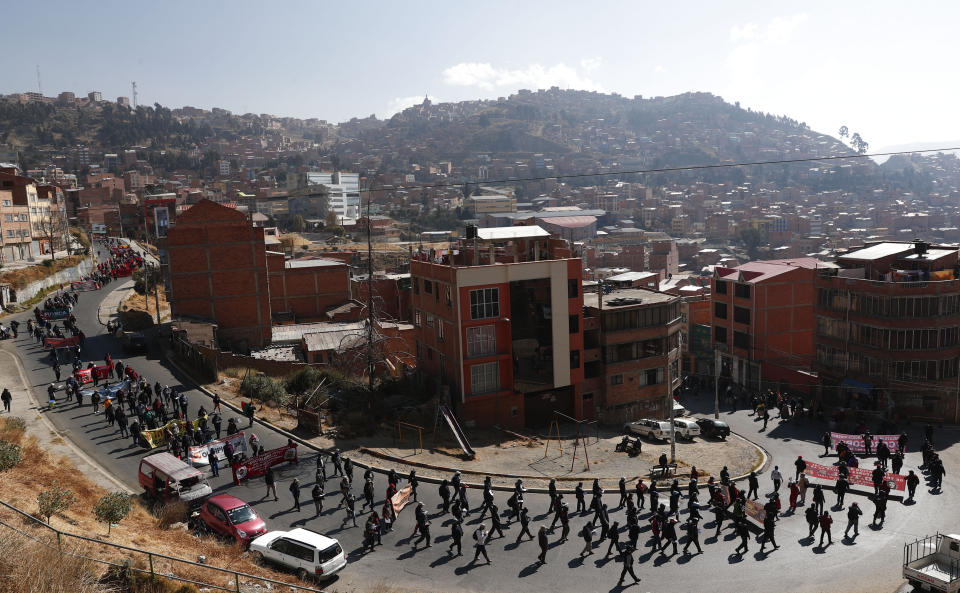
<svg viewBox="0 0 960 593"><path fill-rule="evenodd" d="M878 243L816 277L816 369L827 407L960 420L957 248Z"/></svg>

